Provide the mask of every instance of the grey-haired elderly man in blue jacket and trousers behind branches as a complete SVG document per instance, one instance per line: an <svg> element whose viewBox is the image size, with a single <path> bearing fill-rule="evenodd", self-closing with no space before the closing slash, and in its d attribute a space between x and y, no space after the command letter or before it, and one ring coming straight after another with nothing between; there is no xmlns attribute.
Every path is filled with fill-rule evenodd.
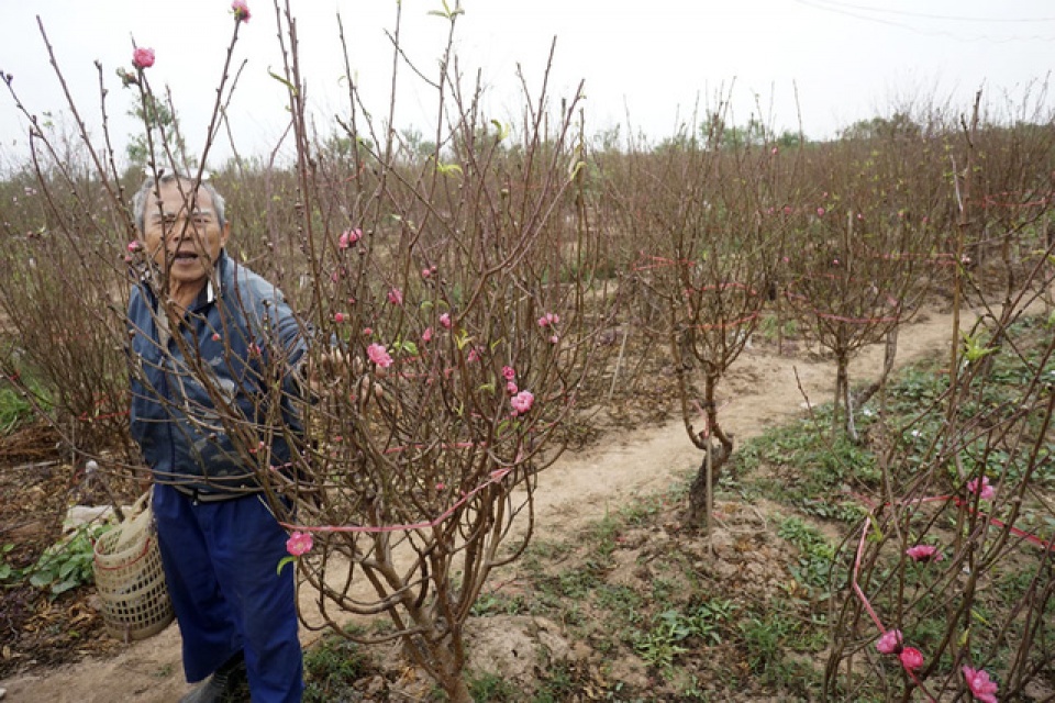
<svg viewBox="0 0 1055 703"><path fill-rule="evenodd" d="M287 535L255 477L286 470L301 436L301 327L225 254L212 186L164 175L133 205L148 271L129 303L132 435L153 471L184 671L207 679L182 701L219 701L246 677L255 703L299 701L293 573L276 574Z"/></svg>

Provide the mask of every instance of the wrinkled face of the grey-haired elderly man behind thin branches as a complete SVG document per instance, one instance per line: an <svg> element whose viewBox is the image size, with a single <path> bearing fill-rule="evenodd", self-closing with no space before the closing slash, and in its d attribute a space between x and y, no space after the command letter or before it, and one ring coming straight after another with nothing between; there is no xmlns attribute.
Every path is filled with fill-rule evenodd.
<svg viewBox="0 0 1055 703"><path fill-rule="evenodd" d="M201 290L227 242L230 226L220 227L212 196L199 190L191 203L192 183L162 183L159 198L147 197L143 217L146 250L162 271L167 271L171 289ZM193 210L191 210L193 204Z"/></svg>

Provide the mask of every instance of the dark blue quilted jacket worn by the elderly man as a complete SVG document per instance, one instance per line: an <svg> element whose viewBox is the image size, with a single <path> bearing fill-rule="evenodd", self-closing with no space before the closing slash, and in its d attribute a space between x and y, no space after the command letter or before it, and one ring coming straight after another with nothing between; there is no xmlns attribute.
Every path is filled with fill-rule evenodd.
<svg viewBox="0 0 1055 703"><path fill-rule="evenodd" d="M155 480L200 492L253 490L288 467L302 328L281 292L221 253L182 320L170 321L149 278L129 302L132 436Z"/></svg>

